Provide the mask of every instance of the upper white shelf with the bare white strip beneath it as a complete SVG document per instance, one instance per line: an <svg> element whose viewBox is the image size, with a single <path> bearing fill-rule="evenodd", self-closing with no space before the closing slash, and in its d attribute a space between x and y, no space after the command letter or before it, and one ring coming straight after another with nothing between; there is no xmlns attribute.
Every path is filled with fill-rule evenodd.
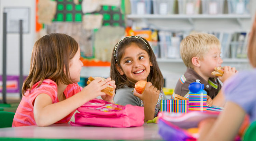
<svg viewBox="0 0 256 141"><path fill-rule="evenodd" d="M133 27L174 31L248 32L251 30L251 18L250 14L127 15L127 19L132 20Z"/></svg>

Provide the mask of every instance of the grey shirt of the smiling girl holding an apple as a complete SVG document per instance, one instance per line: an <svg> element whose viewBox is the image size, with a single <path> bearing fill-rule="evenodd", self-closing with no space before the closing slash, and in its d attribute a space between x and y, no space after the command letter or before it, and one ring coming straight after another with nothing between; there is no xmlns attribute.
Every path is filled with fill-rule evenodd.
<svg viewBox="0 0 256 141"><path fill-rule="evenodd" d="M160 92L158 102L155 108L155 117L160 111L160 100L162 99L166 99L166 96L164 93ZM130 87L123 87L117 89L114 96L114 102L119 105L131 104L133 106L143 106L143 102L137 96L133 95L133 88Z"/></svg>

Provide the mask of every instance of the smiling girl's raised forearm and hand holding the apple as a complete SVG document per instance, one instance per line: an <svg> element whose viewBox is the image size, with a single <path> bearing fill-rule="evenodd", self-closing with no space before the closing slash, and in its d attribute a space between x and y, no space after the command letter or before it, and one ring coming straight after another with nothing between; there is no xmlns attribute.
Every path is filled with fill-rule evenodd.
<svg viewBox="0 0 256 141"><path fill-rule="evenodd" d="M158 101L160 91L155 88L151 82L147 82L142 94L134 89L134 95L140 98L144 103L144 121L154 119L155 107Z"/></svg>

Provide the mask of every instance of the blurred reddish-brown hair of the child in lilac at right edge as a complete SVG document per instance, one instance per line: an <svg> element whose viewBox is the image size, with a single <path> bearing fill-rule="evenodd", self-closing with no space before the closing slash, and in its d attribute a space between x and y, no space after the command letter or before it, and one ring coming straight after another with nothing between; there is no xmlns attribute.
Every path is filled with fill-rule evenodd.
<svg viewBox="0 0 256 141"><path fill-rule="evenodd" d="M256 67L256 16L254 18L252 31L250 35L250 40L248 42L248 58L250 60L251 65L255 68Z"/></svg>

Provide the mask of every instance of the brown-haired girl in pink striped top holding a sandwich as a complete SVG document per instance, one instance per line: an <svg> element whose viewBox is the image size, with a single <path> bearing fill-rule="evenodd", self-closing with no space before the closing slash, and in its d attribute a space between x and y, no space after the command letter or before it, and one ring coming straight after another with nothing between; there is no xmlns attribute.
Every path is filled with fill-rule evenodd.
<svg viewBox="0 0 256 141"><path fill-rule="evenodd" d="M105 82L98 78L84 89L79 87L82 66L80 48L72 37L55 33L35 42L12 126L68 123L76 108L99 95L113 102L114 96L101 92L108 84L116 87L111 78Z"/></svg>

